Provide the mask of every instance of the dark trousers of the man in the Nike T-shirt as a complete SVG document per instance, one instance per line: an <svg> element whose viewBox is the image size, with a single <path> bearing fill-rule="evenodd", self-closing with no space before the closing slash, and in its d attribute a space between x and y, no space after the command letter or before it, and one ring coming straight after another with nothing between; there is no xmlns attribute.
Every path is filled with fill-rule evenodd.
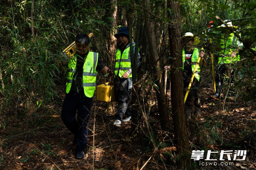
<svg viewBox="0 0 256 170"><path fill-rule="evenodd" d="M186 74L183 74L183 84L184 84L184 90L185 90L184 91L184 96L187 92L191 76L192 75L187 76ZM194 100L194 105L199 108L200 107L200 100L199 100L199 96L197 94L198 85L199 85L199 81L194 77L193 83L192 83L192 85L190 87L190 90L189 90L189 93L188 93L186 104L191 103Z"/></svg>

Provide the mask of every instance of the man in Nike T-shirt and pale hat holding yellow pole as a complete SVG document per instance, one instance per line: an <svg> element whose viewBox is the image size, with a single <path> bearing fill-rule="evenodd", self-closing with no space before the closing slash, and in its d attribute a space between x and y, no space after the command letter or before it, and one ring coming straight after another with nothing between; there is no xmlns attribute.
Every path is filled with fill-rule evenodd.
<svg viewBox="0 0 256 170"><path fill-rule="evenodd" d="M189 82L191 80L191 77L193 75L193 72L195 70L196 62L198 57L201 57L201 61L204 60L204 52L200 51L200 49L195 48L193 45L197 45L200 43L200 39L193 35L193 33L185 33L185 35L182 37L182 43L185 45L184 48L182 48L182 63L183 63L183 85L184 90L188 88ZM201 62L202 63L202 62ZM165 70L169 70L170 66L165 66ZM199 85L200 80L200 65L198 66L195 77L193 79L190 91L188 93L188 98L185 103L185 113L188 115L188 113L191 111L191 102L194 100L194 112L198 113L200 111L200 100L199 96L197 94L197 89ZM186 93L186 91L184 91Z"/></svg>

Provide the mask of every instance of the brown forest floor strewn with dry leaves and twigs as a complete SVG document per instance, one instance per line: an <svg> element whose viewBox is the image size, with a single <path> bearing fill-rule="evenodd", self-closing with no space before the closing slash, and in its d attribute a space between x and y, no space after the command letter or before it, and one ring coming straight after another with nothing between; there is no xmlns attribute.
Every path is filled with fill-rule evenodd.
<svg viewBox="0 0 256 170"><path fill-rule="evenodd" d="M207 150L232 150L233 154L235 150L246 150L247 155L243 161L228 161L225 155L222 162L228 165L221 166L217 153L217 166L202 165L207 161L201 160L191 163L191 169L255 169L255 102L237 96L226 99L223 106L224 100L209 100L211 89L202 88L201 114L196 117L196 131L191 132L190 138L192 150L205 150L204 159ZM106 104L94 102L82 160L74 158L73 135L60 119L61 103L2 114L0 169L176 169L173 162L177 157L171 144L173 130L161 131L154 102L148 122L157 150L147 135L143 116L139 135L131 138L131 124L113 127L114 111L106 108Z"/></svg>

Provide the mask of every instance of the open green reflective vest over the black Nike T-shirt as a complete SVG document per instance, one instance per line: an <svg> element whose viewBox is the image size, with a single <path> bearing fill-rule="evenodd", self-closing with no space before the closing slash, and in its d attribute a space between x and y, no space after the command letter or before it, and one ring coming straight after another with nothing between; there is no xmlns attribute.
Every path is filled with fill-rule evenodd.
<svg viewBox="0 0 256 170"><path fill-rule="evenodd" d="M196 67L196 62L197 62L197 59L199 57L199 49L198 48L194 48L194 51L193 51L193 54L192 54L192 57L191 57L191 62L192 62L192 65L191 65L191 68L192 68L192 72L194 72L195 70L195 67ZM186 60L186 55L185 55L185 49L183 48L182 49L182 63L183 63L183 69L184 69L184 64L185 64L185 60ZM195 74L195 78L199 81L200 80L200 65L198 65L197 67L197 70L196 70L196 74Z"/></svg>

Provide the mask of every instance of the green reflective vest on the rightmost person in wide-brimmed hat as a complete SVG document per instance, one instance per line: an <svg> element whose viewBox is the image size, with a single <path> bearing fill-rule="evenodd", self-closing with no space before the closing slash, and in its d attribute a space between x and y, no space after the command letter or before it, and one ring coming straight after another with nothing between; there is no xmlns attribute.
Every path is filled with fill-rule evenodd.
<svg viewBox="0 0 256 170"><path fill-rule="evenodd" d="M231 57L232 52L237 50L237 44L236 44L237 37L234 35L234 33L229 34L228 39L225 39L224 36L225 36L224 34L221 36L220 54L225 55L226 57L220 55L218 64L221 62L221 60L223 60L225 64L240 61L240 55L238 54L238 52L236 53L235 57L233 58Z"/></svg>

